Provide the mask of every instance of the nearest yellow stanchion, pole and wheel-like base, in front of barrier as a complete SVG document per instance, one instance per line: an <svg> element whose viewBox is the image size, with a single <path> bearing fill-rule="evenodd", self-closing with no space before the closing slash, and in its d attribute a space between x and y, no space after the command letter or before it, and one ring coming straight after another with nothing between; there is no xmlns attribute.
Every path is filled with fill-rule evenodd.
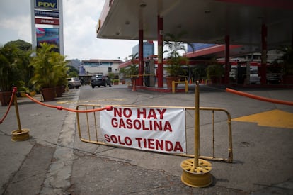
<svg viewBox="0 0 293 195"><path fill-rule="evenodd" d="M200 148L200 93L199 82L195 87L195 157L181 162L183 173L181 181L192 187L206 187L212 184L212 164L207 160L199 159Z"/></svg>

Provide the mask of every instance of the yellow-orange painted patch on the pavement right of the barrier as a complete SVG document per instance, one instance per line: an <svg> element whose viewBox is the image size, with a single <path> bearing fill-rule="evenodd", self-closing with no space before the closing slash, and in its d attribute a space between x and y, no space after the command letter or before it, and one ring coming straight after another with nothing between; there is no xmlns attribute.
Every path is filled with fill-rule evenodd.
<svg viewBox="0 0 293 195"><path fill-rule="evenodd" d="M232 121L258 123L258 126L293 128L293 113L276 109L263 113L255 113L249 116L233 118Z"/></svg>

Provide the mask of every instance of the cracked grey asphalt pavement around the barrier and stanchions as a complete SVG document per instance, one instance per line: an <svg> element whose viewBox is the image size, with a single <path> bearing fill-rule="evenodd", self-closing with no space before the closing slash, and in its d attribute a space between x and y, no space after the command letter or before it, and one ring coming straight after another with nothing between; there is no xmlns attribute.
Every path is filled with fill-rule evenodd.
<svg viewBox="0 0 293 195"><path fill-rule="evenodd" d="M293 101L292 89L234 89ZM34 98L42 100L40 95ZM195 95L194 85L188 93L176 94L132 91L127 85L82 86L45 103L72 109L81 104L190 107L195 106ZM292 106L249 99L227 93L225 87L206 85L200 85L200 106L224 108L231 114L233 162L209 160L212 184L193 188L180 179L180 163L187 157L83 142L76 113L18 98L21 127L30 130L30 138L11 141L11 132L18 130L16 111L11 107L0 124L0 193L293 194ZM0 117L6 109L0 107ZM201 155L206 156L213 155L212 137L207 133L212 128L209 116L200 112ZM187 150L193 153L193 111L186 111L186 117ZM79 122L84 136L86 118L82 116ZM95 126L89 123L90 128ZM226 123L225 114L215 115L217 157L229 156Z"/></svg>

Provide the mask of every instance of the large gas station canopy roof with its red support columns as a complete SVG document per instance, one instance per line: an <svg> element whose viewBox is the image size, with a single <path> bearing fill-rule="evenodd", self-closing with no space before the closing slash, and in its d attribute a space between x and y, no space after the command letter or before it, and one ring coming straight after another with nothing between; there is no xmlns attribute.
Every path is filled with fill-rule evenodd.
<svg viewBox="0 0 293 195"><path fill-rule="evenodd" d="M224 47L225 84L229 84L232 56L260 52L260 83L266 84L268 50L293 45L292 9L289 0L105 1L97 38L139 40L138 86L143 85L145 69L143 41L158 41L156 79L162 88L163 36L180 32L187 32L183 42ZM231 50L239 45L243 45L241 50Z"/></svg>

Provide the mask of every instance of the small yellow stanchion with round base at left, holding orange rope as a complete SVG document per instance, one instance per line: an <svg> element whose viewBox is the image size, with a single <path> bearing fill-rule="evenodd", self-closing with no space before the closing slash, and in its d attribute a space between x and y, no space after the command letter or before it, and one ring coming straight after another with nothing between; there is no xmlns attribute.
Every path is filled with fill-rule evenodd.
<svg viewBox="0 0 293 195"><path fill-rule="evenodd" d="M19 118L19 113L18 113L16 91L17 91L17 88L14 87L13 88L13 92L14 92L13 99L14 99L14 106L16 108L16 118L17 118L18 130L13 130L11 132L11 136L12 136L11 140L24 141L24 140L28 140L28 138L30 138L30 135L28 133L30 130L21 128L21 119Z"/></svg>

